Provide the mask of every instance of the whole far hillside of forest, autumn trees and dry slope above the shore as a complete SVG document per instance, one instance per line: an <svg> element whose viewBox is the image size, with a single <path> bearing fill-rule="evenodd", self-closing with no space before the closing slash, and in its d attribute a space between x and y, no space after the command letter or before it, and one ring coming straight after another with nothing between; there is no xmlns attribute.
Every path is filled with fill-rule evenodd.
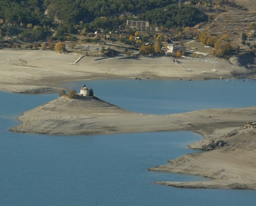
<svg viewBox="0 0 256 206"><path fill-rule="evenodd" d="M182 40L198 40L211 48L209 55L216 57L255 53L255 1L190 0L181 1L180 7L178 3L174 0L26 0L22 3L3 0L0 47L22 48L23 45L26 49L38 49L42 47L38 42L45 42L43 49L51 50L56 41L71 41L67 46L72 49L79 41L104 41L108 45L116 43L116 50L126 47L140 49L141 55L164 55L166 50L162 48L172 41L182 44ZM157 29L138 31L127 27L126 20L145 20ZM151 45L143 47L148 43ZM111 54L118 52L111 50L108 56ZM131 52L123 54L131 55Z"/></svg>

